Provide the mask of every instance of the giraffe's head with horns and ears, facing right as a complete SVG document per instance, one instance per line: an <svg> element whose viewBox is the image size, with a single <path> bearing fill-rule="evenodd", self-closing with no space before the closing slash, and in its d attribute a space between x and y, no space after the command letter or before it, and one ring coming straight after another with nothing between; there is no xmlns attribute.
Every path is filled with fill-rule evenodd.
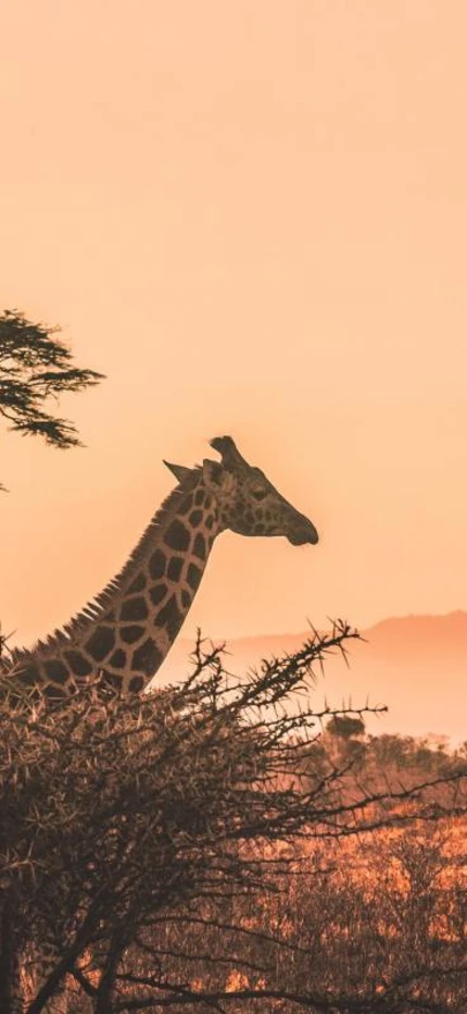
<svg viewBox="0 0 467 1014"><path fill-rule="evenodd" d="M317 543L312 521L281 496L261 469L242 458L231 436L216 436L211 446L222 460L204 459L203 483L216 503L220 529L240 535L285 535L294 546ZM168 467L177 479L191 471Z"/></svg>

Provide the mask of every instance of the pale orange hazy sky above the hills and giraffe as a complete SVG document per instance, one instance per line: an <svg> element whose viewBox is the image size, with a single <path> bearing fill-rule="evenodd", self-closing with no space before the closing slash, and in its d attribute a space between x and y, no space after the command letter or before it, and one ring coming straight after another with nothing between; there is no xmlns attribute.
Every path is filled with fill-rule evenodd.
<svg viewBox="0 0 467 1014"><path fill-rule="evenodd" d="M0 617L65 621L231 433L321 541L223 535L229 635L467 608L464 0L0 10L0 305L108 380L2 440Z"/></svg>

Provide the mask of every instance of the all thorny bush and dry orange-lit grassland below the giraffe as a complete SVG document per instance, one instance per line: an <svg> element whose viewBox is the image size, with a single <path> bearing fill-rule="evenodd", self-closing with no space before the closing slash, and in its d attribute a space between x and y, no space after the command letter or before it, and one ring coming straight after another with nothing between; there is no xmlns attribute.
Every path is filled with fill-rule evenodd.
<svg viewBox="0 0 467 1014"><path fill-rule="evenodd" d="M51 705L2 678L0 1009L465 1009L466 751L313 709L356 631Z"/></svg>

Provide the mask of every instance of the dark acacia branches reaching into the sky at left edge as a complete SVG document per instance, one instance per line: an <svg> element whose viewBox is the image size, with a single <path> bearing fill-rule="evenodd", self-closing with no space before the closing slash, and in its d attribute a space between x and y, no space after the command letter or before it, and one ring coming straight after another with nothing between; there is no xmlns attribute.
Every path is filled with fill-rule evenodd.
<svg viewBox="0 0 467 1014"><path fill-rule="evenodd" d="M66 449L80 444L76 428L49 404L98 384L103 374L76 367L59 330L33 324L16 310L0 314L0 415L16 433Z"/></svg>

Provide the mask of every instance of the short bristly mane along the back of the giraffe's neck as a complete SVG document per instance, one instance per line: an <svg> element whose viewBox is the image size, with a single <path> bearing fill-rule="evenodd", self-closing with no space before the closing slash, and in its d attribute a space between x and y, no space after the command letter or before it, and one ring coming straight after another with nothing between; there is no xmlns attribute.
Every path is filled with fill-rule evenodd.
<svg viewBox="0 0 467 1014"><path fill-rule="evenodd" d="M124 564L122 570L108 582L105 588L99 592L98 595L90 598L79 613L73 616L63 627L56 628L46 640L36 641L30 648L13 648L10 659L1 659L0 672L5 664L7 668L11 669L21 664L23 659L38 652L40 652L41 655L49 655L54 648L73 643L75 634L81 633L86 627L96 623L103 616L109 606L112 605L112 599L118 595L119 592L124 591L125 585L135 577L135 572L147 557L154 539L157 537L157 532L166 521L178 512L181 497L186 496L187 493L191 493L197 486L201 473L201 467L198 465L194 466L194 468L190 469L189 475L184 477L175 490L172 490L165 500L163 500L161 507L159 507L151 518L151 521Z"/></svg>

